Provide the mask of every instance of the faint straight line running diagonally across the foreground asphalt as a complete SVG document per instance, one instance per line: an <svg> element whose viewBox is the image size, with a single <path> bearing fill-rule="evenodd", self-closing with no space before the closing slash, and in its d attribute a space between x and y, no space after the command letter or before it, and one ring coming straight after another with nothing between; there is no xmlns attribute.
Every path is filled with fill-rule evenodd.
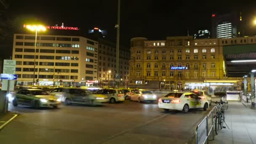
<svg viewBox="0 0 256 144"><path fill-rule="evenodd" d="M163 118L163 117L165 117L166 115L168 115L168 114L161 115L160 117L156 117L156 118L154 118L153 120L149 120L149 121L147 121L146 123L142 123L142 124L137 125L137 126L135 126L135 127L133 127L133 128L129 128L129 129L126 130L126 131L121 131L120 133L117 133L117 134L115 134L115 135L109 136L108 138L103 139L103 140L101 140L101 141L98 141L98 142L96 142L95 144L102 144L102 143L104 143L105 141L108 141L108 140L110 140L110 139L113 139L113 138L115 138L115 137L117 137L117 136L122 135L123 133L127 133L128 131L132 131L132 130L135 129L135 128L139 128L139 127L142 127L142 126L147 125L147 124L149 124L149 123L152 123L153 121L158 120L158 119L160 119L160 118Z"/></svg>

